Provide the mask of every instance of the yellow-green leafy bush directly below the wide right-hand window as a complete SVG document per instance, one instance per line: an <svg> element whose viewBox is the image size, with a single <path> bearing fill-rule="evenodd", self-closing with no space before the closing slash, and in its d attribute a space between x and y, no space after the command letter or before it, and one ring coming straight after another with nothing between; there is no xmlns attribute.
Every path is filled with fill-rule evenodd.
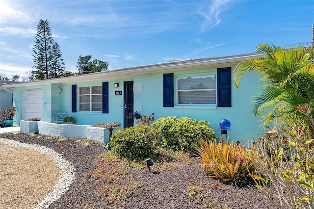
<svg viewBox="0 0 314 209"><path fill-rule="evenodd" d="M152 127L160 134L161 147L175 152L193 153L199 139L214 138L214 131L209 127L209 122L204 120L173 116L157 119Z"/></svg>

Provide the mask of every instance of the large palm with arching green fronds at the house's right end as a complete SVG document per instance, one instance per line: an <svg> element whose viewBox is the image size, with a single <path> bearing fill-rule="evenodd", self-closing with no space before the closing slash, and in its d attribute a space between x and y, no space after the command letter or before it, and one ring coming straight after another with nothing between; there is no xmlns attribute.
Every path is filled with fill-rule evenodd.
<svg viewBox="0 0 314 209"><path fill-rule="evenodd" d="M298 120L300 115L295 106L314 104L314 47L281 49L260 44L257 52L266 53L267 56L239 63L233 74L235 86L239 88L247 72L259 73L265 86L258 96L253 97L251 112L258 117L263 115L267 123L274 117L283 124Z"/></svg>

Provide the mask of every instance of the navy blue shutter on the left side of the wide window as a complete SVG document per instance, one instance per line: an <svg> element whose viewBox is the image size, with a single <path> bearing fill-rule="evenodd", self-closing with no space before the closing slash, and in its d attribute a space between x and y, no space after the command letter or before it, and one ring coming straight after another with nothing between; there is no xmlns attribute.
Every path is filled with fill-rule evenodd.
<svg viewBox="0 0 314 209"><path fill-rule="evenodd" d="M163 74L163 106L173 107L173 73Z"/></svg>

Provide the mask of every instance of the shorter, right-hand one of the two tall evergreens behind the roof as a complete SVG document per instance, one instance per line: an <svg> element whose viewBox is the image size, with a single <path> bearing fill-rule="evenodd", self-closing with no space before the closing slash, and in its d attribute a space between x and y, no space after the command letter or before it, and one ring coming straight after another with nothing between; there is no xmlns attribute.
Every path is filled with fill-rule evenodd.
<svg viewBox="0 0 314 209"><path fill-rule="evenodd" d="M60 78L64 74L64 62L58 43L52 45L52 68L49 69L49 78Z"/></svg>

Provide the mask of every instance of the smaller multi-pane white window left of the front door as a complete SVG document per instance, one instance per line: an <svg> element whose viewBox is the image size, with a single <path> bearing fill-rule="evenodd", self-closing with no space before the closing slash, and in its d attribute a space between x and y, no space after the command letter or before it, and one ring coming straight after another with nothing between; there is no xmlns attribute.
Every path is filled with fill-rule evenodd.
<svg viewBox="0 0 314 209"><path fill-rule="evenodd" d="M80 111L102 111L102 86L80 87L78 93Z"/></svg>

